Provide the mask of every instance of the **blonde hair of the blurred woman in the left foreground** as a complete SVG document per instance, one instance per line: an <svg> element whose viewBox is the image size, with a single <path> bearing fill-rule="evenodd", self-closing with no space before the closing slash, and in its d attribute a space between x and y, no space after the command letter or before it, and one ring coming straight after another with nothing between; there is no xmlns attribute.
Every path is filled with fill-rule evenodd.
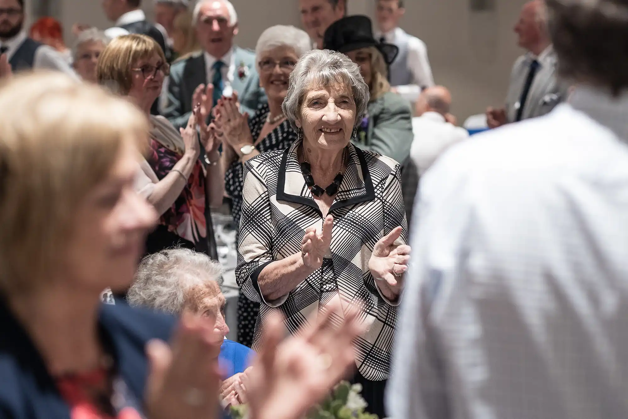
<svg viewBox="0 0 628 419"><path fill-rule="evenodd" d="M0 294L41 284L73 215L148 122L124 99L60 72L0 84Z"/></svg>

